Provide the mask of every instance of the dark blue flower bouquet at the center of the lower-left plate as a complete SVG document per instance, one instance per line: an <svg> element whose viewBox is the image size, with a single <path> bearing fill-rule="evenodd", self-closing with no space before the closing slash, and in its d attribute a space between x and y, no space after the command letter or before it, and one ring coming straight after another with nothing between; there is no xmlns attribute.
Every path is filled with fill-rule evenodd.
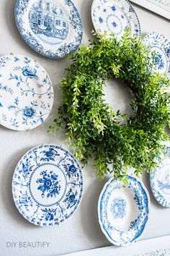
<svg viewBox="0 0 170 256"><path fill-rule="evenodd" d="M39 187L37 187L38 190L42 192L41 196L42 198L45 197L55 197L59 194L61 190L61 185L58 181L58 175L56 175L53 171L42 171L40 173L40 176L42 178L37 179L37 184L40 184Z"/></svg>

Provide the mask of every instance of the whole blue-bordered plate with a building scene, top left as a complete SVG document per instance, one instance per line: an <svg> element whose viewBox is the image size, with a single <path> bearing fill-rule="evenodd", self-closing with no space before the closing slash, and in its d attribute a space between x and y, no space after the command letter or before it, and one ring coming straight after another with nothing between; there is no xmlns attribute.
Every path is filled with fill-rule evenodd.
<svg viewBox="0 0 170 256"><path fill-rule="evenodd" d="M26 43L49 58L63 58L81 43L81 18L71 0L17 0L15 20Z"/></svg>

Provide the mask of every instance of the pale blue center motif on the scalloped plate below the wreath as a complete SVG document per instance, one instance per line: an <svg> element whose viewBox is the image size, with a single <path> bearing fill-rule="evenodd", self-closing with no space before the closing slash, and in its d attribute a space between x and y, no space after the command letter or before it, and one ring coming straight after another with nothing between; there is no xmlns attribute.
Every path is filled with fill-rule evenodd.
<svg viewBox="0 0 170 256"><path fill-rule="evenodd" d="M116 197L111 205L111 212L114 218L123 218L126 215L126 207L126 200L122 197Z"/></svg>

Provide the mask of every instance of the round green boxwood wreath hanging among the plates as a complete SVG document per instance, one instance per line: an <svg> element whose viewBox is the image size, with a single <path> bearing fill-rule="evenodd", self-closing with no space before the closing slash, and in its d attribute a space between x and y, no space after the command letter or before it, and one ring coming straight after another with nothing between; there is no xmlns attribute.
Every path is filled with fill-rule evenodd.
<svg viewBox="0 0 170 256"><path fill-rule="evenodd" d="M55 134L65 126L76 158L86 164L93 156L99 179L108 173L126 179L128 167L137 175L152 171L153 157L168 139L164 129L170 121L170 82L166 74L151 72L154 56L141 40L130 38L128 30L120 41L114 35L95 35L97 40L71 55L61 82L63 106L49 131ZM125 115L104 103L105 81L114 77L133 95L134 115L126 122Z"/></svg>

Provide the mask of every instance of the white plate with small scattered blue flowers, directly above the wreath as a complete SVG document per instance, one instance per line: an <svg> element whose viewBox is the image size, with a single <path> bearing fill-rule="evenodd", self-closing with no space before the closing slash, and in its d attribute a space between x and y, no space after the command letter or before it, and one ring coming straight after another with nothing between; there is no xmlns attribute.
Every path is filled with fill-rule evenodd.
<svg viewBox="0 0 170 256"><path fill-rule="evenodd" d="M140 23L135 9L127 0L94 0L91 17L95 30L99 33L114 34L120 39L126 28L130 35L140 37Z"/></svg>

